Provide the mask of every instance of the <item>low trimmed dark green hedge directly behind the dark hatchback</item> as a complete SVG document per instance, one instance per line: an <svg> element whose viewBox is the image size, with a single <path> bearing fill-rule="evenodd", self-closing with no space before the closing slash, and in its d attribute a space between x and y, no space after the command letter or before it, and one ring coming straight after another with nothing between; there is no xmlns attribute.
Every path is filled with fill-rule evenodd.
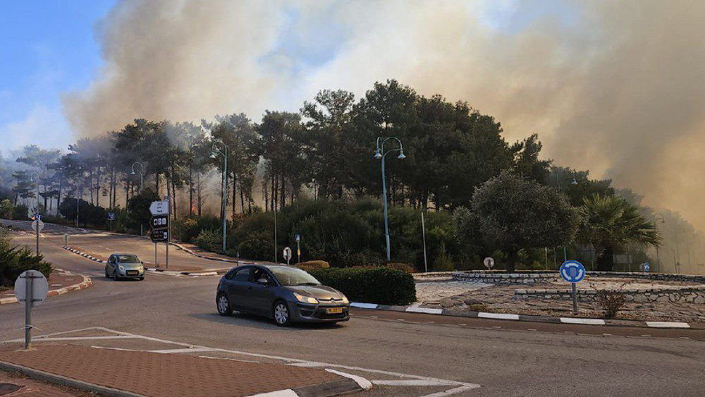
<svg viewBox="0 0 705 397"><path fill-rule="evenodd" d="M416 300L414 278L404 271L375 267L318 269L309 273L353 302L408 305Z"/></svg>

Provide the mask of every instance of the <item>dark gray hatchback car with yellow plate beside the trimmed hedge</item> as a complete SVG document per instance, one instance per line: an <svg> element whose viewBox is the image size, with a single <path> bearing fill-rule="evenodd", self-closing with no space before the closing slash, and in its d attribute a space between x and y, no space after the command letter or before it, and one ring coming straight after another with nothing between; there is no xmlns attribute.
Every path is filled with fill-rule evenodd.
<svg viewBox="0 0 705 397"><path fill-rule="evenodd" d="M218 283L221 316L233 310L291 322L348 321L350 303L343 293L321 285L314 276L286 265L248 265L230 269Z"/></svg>

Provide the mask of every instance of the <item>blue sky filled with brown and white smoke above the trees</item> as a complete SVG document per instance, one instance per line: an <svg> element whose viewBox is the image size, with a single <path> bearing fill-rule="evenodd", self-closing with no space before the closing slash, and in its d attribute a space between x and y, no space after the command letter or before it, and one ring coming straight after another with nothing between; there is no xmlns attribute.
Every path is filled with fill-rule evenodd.
<svg viewBox="0 0 705 397"><path fill-rule="evenodd" d="M0 153L393 78L705 229L705 2L0 0Z"/></svg>

